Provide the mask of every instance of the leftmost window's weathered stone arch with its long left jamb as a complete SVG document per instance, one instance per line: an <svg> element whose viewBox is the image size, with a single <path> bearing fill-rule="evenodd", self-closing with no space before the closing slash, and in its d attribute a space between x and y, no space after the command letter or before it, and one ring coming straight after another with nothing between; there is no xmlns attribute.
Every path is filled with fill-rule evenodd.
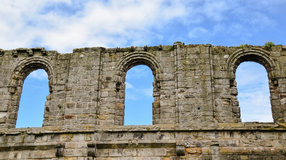
<svg viewBox="0 0 286 160"><path fill-rule="evenodd" d="M51 93L51 84L56 81L54 77L54 75L56 75L56 71L54 70L54 65L51 60L45 57L27 58L19 62L18 65L16 65L16 67L12 70L9 82L10 85L8 86L8 92L11 94L11 103L8 111L8 122L10 123L10 127L14 128L16 125L24 80L32 71L38 69L44 69L47 72L49 79L49 91Z"/></svg>

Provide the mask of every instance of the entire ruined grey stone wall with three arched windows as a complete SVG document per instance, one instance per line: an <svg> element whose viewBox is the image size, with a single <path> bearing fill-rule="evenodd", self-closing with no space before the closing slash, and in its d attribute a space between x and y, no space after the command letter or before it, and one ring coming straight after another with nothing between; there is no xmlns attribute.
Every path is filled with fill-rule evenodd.
<svg viewBox="0 0 286 160"><path fill-rule="evenodd" d="M1 50L0 159L286 159L286 46ZM268 73L274 123L241 122L235 71ZM125 76L153 72L153 125L124 126ZM48 73L43 127L16 129L25 78ZM95 158L97 157L97 158Z"/></svg>

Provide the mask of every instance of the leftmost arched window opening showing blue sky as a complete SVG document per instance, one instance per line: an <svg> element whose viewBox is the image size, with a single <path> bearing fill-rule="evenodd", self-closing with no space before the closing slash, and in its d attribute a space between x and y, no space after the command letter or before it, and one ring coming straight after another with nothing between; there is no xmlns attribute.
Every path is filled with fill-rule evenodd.
<svg viewBox="0 0 286 160"><path fill-rule="evenodd" d="M42 127L46 96L49 95L45 70L31 72L24 81L16 128Z"/></svg>

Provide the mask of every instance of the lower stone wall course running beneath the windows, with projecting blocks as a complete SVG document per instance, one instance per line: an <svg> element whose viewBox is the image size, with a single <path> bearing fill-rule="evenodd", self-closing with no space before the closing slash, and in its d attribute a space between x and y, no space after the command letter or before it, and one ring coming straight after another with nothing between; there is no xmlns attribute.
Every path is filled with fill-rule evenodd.
<svg viewBox="0 0 286 160"><path fill-rule="evenodd" d="M0 159L286 160L286 132L282 128L109 127L10 129L0 132Z"/></svg>

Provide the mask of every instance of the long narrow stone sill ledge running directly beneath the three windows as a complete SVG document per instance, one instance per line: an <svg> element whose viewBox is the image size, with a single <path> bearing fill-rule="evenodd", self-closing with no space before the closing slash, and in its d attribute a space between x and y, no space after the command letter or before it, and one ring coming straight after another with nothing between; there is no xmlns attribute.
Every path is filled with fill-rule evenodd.
<svg viewBox="0 0 286 160"><path fill-rule="evenodd" d="M21 132L27 134L43 135L49 133L105 133L105 132L166 132L166 131L286 131L286 123L218 123L217 127L176 127L175 124L156 124L156 125L102 125L95 129L66 129L59 130L62 126L28 127L0 129L0 135L20 135Z"/></svg>

